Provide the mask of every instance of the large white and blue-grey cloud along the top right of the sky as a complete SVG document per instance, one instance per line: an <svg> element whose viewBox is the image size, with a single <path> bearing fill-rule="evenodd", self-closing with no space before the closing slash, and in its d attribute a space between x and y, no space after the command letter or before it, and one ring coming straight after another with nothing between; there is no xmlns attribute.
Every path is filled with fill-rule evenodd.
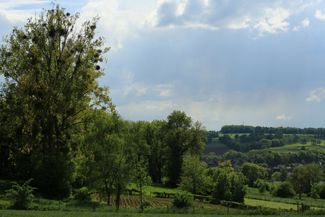
<svg viewBox="0 0 325 217"><path fill-rule="evenodd" d="M264 33L286 32L288 18L312 6L312 1L161 0L146 22L156 28L253 28ZM309 25L306 19L303 26ZM295 29L296 30L296 29Z"/></svg>

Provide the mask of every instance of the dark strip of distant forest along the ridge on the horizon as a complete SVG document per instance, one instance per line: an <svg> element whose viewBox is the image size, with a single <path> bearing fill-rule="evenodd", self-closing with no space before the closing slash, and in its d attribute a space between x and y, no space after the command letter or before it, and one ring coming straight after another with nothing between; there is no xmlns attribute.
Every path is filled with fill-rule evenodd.
<svg viewBox="0 0 325 217"><path fill-rule="evenodd" d="M253 127L245 125L225 125L220 132L223 134L274 134L276 131L282 131L283 134L325 134L325 128L297 128L297 127Z"/></svg>

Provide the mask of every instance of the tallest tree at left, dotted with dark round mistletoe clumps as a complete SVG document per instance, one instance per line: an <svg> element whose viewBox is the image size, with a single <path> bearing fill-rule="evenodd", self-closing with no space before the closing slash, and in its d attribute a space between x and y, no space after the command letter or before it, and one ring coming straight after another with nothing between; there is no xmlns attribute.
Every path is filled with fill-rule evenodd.
<svg viewBox="0 0 325 217"><path fill-rule="evenodd" d="M76 30L79 14L52 6L28 19L25 28L14 28L0 50L1 98L11 107L6 115L19 120L16 151L33 156L35 172L42 173L35 181L51 189L49 194L71 181L71 171L67 179L64 169L71 168L74 139L92 120L89 107L113 107L108 88L97 81L104 74L98 62L109 51L102 49L104 39L95 37L99 18Z"/></svg>

